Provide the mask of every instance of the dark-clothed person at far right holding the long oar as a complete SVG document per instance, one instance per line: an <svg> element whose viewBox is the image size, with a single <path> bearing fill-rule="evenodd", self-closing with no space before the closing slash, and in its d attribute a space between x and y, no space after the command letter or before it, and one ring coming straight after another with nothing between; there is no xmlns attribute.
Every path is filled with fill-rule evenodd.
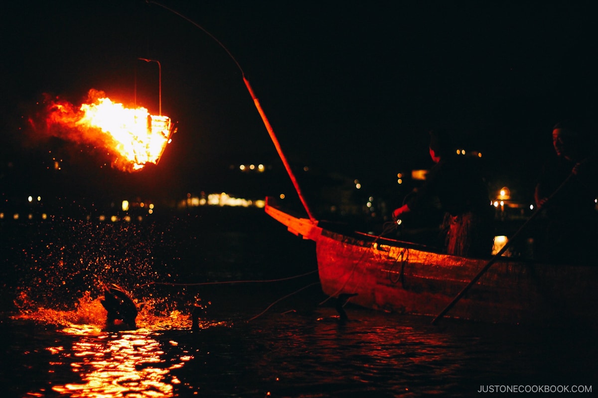
<svg viewBox="0 0 598 398"><path fill-rule="evenodd" d="M563 121L553 127L553 147L534 192L545 223L536 236L536 258L590 262L598 248L596 145L587 125Z"/></svg>

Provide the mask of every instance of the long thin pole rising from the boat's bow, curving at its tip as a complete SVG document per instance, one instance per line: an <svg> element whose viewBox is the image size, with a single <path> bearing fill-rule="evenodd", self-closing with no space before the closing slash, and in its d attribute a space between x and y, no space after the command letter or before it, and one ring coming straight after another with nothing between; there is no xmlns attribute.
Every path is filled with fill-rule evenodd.
<svg viewBox="0 0 598 398"><path fill-rule="evenodd" d="M313 223L315 223L316 218L313 216L312 211L310 211L309 206L307 205L307 202L303 196L303 193L301 193L301 189L299 187L299 183L297 182L297 178L295 178L295 175L292 172L291 166L289 165L289 162L286 160L285 154L282 152L282 147L280 147L278 138L276 138L276 134L274 134L274 129L270 125L270 121L268 120L266 113L264 112L264 110L261 107L260 100L258 100L257 96L255 95L254 90L251 88L251 85L249 84L249 81L245 76L245 72L243 72L243 68L240 66L240 64L236 60L236 58L233 57L233 54L231 54L230 51L228 51L228 48L226 48L226 46L224 44L222 44L218 39L216 39L216 37L214 35L212 35L212 33L208 32L208 30L204 29L200 24L196 23L195 21L191 20L190 18L187 18L184 15L182 15L181 13L178 13L177 11L172 10L172 8L168 8L165 5L162 5L158 2L150 1L150 0L146 0L145 2L147 2L148 4L155 4L158 7L164 8L164 10L170 11L171 13L175 14L176 16L183 18L185 21L188 21L189 23L191 23L194 26L198 27L199 29L203 30L203 32L205 32L208 36L210 36L210 38L212 38L216 43L218 43L218 45L220 47L222 47L224 49L224 51L226 51L228 56L231 57L231 59L234 61L234 63L237 65L237 67L241 71L241 75L243 76L243 82L245 82L245 87L249 91L249 95L251 95L252 100L254 100L254 105L257 108L258 113L260 113L262 122L264 123L264 126L266 127L266 130L268 131L268 134L270 135L270 139L272 140L272 143L274 144L274 147L276 148L276 152L278 153L280 160L282 160L282 163L285 166L286 173L291 178L291 182L292 182L293 186L295 187L295 191L297 192L297 195L299 195L299 199L301 200L301 204L303 205L303 208L307 212L307 216L309 217L309 220L312 221Z"/></svg>

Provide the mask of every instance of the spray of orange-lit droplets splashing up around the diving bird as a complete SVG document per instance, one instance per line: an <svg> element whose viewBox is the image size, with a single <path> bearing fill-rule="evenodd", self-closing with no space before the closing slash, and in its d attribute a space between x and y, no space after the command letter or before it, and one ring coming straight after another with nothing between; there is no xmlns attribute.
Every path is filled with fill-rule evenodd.
<svg viewBox="0 0 598 398"><path fill-rule="evenodd" d="M180 220L172 223L180 227ZM102 325L103 286L116 283L142 307L140 325L190 326L188 314L201 301L199 295L185 287L166 291L153 284L176 277L179 250L184 248L172 223L97 223L65 217L12 226L21 233L7 243L7 263L14 269L5 286L13 284L9 287L14 290L14 309L20 316L53 325Z"/></svg>

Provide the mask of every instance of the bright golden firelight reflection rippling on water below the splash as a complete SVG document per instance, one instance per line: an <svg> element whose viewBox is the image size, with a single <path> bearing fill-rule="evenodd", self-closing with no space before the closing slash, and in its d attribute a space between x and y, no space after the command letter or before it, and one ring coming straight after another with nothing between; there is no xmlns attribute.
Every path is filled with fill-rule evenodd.
<svg viewBox="0 0 598 398"><path fill-rule="evenodd" d="M100 398L106 396L169 397L173 395L176 377L170 370L181 363L166 363L158 341L140 334L96 335L73 343L71 350L48 348L52 353L77 357L71 363L81 383L55 385L54 391L71 397ZM66 351L69 351L68 353Z"/></svg>

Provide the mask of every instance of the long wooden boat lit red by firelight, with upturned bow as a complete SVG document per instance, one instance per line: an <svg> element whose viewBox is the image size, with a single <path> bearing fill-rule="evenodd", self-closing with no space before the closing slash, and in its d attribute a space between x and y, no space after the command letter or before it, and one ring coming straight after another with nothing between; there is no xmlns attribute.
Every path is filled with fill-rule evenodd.
<svg viewBox="0 0 598 398"><path fill-rule="evenodd" d="M376 310L437 316L490 258L443 254L428 246L359 232L335 232L267 200L266 213L316 244L319 279L330 297ZM598 267L498 257L446 316L495 323L597 325ZM347 296L344 296L347 297ZM435 318L437 319L437 318Z"/></svg>

